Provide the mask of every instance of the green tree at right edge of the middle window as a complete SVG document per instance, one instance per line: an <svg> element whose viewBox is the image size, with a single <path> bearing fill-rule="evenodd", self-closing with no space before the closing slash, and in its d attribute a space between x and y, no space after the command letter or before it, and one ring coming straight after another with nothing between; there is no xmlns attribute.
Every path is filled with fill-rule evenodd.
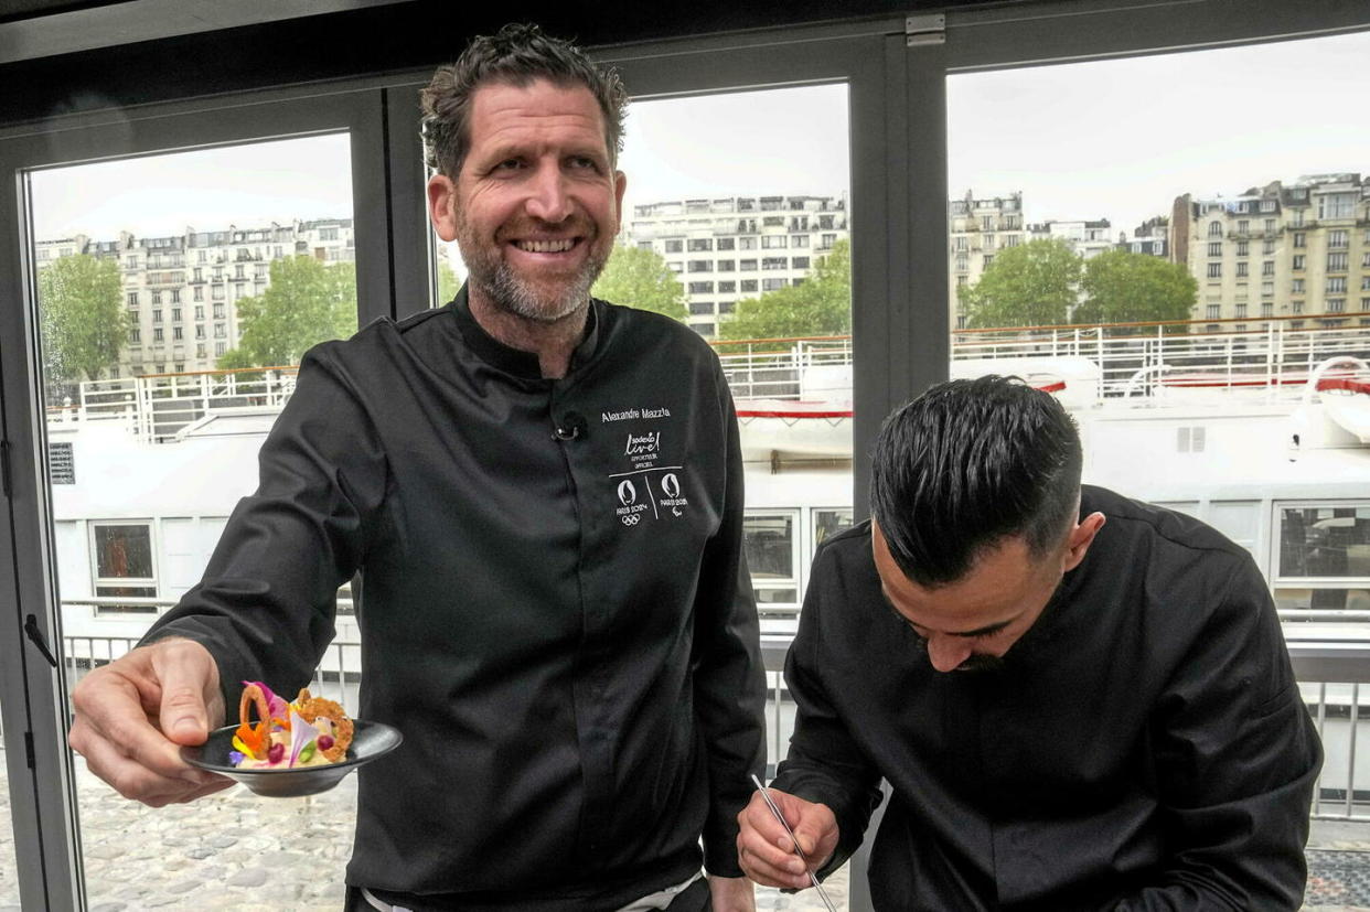
<svg viewBox="0 0 1370 912"><path fill-rule="evenodd" d="M737 303L733 319L719 326L723 338L845 335L852 327L852 251L843 238L819 259L801 285L766 292Z"/></svg>

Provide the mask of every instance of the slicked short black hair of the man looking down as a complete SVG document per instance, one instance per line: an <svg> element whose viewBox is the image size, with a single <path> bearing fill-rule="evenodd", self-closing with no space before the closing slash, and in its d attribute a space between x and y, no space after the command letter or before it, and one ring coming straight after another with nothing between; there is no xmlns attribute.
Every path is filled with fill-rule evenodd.
<svg viewBox="0 0 1370 912"><path fill-rule="evenodd" d="M1060 544L1082 461L1075 422L1049 393L1015 377L951 381L885 419L870 511L910 579L945 585L1006 535L1034 557Z"/></svg>

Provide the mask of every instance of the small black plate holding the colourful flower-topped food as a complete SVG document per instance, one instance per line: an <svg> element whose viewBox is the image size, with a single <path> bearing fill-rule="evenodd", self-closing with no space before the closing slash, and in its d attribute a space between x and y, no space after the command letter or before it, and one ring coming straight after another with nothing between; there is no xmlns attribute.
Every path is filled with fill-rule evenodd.
<svg viewBox="0 0 1370 912"><path fill-rule="evenodd" d="M293 770L240 770L229 764L233 750L233 733L237 726L225 726L210 733L210 738L197 748L181 748L181 759L192 767L218 772L241 782L252 791L270 798L299 798L307 794L327 791L342 776L362 764L388 755L404 741L396 729L381 722L352 720L352 744L341 763L325 767L297 767Z"/></svg>

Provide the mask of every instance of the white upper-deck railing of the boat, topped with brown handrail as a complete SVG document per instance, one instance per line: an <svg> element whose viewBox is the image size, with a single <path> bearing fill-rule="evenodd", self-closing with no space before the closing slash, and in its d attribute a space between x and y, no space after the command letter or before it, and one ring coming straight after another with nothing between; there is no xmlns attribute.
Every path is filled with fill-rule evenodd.
<svg viewBox="0 0 1370 912"><path fill-rule="evenodd" d="M1175 333L1173 325L958 330L951 370L1055 378L1073 408L1147 407L1215 393L1255 403L1297 403L1330 357L1370 359L1370 326L1296 329L1269 320L1247 329ZM1188 327L1195 330L1196 327ZM852 340L773 338L715 342L734 400L852 401ZM960 370L958 371L958 364ZM297 367L149 374L81 383L75 401L49 409L53 425L116 420L140 440L169 442L199 423L279 409ZM1340 368L1345 372L1354 367Z"/></svg>

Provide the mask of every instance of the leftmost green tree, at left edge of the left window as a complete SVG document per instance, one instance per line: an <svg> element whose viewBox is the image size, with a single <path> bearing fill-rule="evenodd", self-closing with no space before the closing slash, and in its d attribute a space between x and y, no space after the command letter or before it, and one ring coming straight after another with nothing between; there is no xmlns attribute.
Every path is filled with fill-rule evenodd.
<svg viewBox="0 0 1370 912"><path fill-rule="evenodd" d="M44 367L51 393L100 379L129 341L115 260L63 256L38 273Z"/></svg>

